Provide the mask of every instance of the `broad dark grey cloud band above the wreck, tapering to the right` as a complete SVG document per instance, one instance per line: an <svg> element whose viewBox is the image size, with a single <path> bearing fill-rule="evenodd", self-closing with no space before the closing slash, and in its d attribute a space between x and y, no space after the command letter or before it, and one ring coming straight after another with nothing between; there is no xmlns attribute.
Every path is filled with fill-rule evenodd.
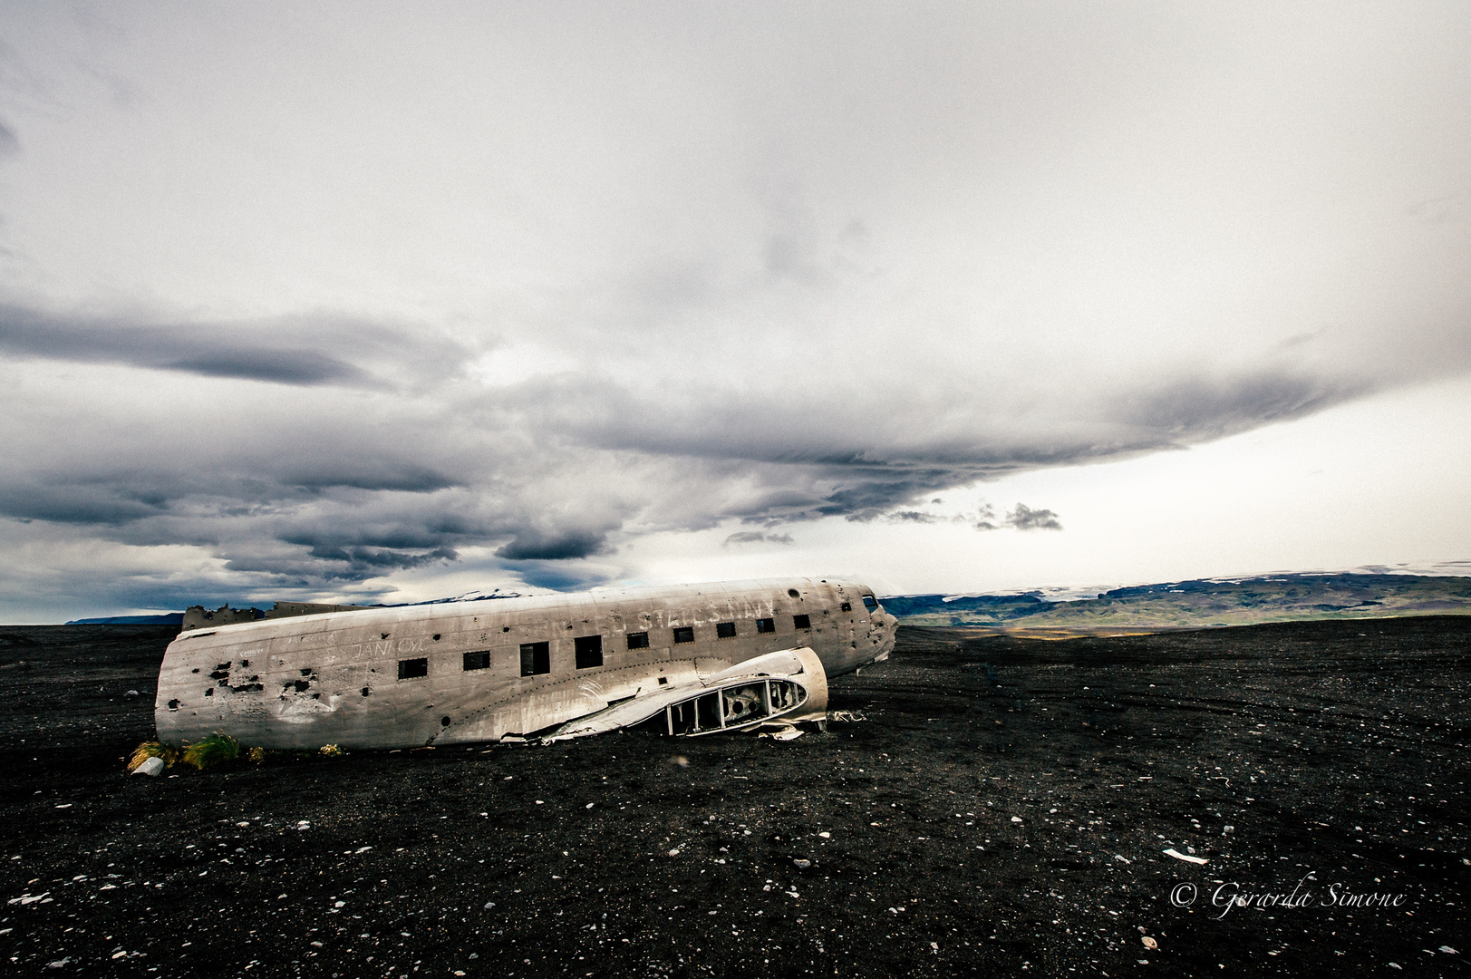
<svg viewBox="0 0 1471 979"><path fill-rule="evenodd" d="M953 400L940 424L902 393L865 415L863 405L827 411L783 390L758 399L759 411L737 406L744 414L733 420L719 395L681 395L666 411L652 395L609 396L606 380L578 374L491 392L446 387L422 402L375 392L344 402L306 387L271 411L260 406L278 399L260 392L259 403L222 415L241 425L224 437L194 437L200 423L190 418L168 428L138 420L143 434L113 445L106 425L79 421L74 442L35 443L0 467L0 512L91 526L121 543L203 548L231 574L287 595L455 564L474 548L531 584L585 584L600 571L556 567L615 554L635 514L675 531L758 524L727 548L790 545L781 526L825 517L930 523L916 505L940 490L1190 445L1342 396L1328 381L1250 374L1133 386L1093 408L1069 402L1069 414L1093 412L1083 423L1028 417L1003 427L984 400ZM972 417L972 431L958 428L956 418ZM977 530L1061 529L1055 512L1025 505L1005 520L987 508L964 520Z"/></svg>

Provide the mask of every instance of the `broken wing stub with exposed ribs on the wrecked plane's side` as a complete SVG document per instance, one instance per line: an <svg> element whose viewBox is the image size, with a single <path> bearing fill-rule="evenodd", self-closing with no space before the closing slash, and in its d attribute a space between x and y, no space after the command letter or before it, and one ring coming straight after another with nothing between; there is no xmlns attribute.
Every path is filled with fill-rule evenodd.
<svg viewBox="0 0 1471 979"><path fill-rule="evenodd" d="M827 717L827 671L812 649L781 649L699 683L638 690L627 701L571 720L543 741L602 735L647 723L669 735L713 735Z"/></svg>

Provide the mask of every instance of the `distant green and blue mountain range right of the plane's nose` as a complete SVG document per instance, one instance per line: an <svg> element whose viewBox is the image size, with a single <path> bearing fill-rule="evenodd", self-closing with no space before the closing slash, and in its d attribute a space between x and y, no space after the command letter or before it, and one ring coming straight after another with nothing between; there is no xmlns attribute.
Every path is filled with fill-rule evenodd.
<svg viewBox="0 0 1471 979"><path fill-rule="evenodd" d="M964 626L1019 636L1099 636L1319 618L1471 615L1471 577L1269 574L1140 584L1094 599L1024 595L896 595L906 626Z"/></svg>

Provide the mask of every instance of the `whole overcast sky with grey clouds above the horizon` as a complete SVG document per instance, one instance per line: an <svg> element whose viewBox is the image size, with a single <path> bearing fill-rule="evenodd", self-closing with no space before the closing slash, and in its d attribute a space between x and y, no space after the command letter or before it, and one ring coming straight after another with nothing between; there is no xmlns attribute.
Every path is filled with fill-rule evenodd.
<svg viewBox="0 0 1471 979"><path fill-rule="evenodd" d="M1471 564L1471 6L0 3L0 620Z"/></svg>

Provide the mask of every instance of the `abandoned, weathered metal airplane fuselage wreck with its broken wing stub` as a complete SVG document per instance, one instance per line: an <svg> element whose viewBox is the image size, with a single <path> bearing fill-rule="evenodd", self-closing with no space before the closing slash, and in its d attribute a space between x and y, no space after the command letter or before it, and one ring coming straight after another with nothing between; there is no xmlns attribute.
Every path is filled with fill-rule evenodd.
<svg viewBox="0 0 1471 979"><path fill-rule="evenodd" d="M179 633L154 720L275 749L746 730L824 718L827 677L887 658L896 624L812 579L265 618Z"/></svg>

